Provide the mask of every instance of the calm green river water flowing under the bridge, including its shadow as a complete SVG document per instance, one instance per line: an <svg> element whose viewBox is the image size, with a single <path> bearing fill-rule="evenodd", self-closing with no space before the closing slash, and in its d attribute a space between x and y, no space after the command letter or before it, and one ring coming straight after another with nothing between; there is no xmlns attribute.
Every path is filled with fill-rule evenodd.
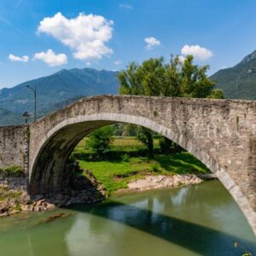
<svg viewBox="0 0 256 256"><path fill-rule="evenodd" d="M67 218L44 223L67 212ZM98 206L0 219L1 256L241 255L253 232L217 181L111 198Z"/></svg>

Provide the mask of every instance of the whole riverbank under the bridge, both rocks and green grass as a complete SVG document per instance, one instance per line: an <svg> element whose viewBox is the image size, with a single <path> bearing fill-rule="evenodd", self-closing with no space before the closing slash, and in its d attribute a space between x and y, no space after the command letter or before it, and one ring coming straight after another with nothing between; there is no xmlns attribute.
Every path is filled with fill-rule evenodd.
<svg viewBox="0 0 256 256"><path fill-rule="evenodd" d="M55 194L31 197L25 191L0 187L0 217L96 203L113 193L201 183L202 176L209 173L207 167L188 152L157 154L154 159L137 156L121 160L78 160L76 163L70 165L71 169L67 167L64 189Z"/></svg>

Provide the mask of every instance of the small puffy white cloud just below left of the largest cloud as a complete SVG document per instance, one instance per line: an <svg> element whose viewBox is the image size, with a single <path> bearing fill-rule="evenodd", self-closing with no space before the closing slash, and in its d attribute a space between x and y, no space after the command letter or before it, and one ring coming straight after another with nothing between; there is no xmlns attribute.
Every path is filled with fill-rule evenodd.
<svg viewBox="0 0 256 256"><path fill-rule="evenodd" d="M56 55L52 49L48 49L46 52L42 51L34 54L35 60L44 61L49 67L55 67L67 64L67 55Z"/></svg>

